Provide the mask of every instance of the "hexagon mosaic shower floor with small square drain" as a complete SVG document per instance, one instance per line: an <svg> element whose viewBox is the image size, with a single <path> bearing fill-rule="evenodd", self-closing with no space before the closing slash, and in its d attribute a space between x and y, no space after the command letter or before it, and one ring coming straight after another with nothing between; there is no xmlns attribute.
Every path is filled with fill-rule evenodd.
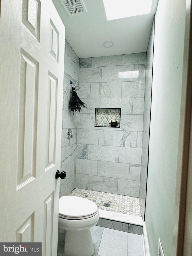
<svg viewBox="0 0 192 256"><path fill-rule="evenodd" d="M141 216L139 198L75 188L69 196L84 197L95 202L99 209Z"/></svg>

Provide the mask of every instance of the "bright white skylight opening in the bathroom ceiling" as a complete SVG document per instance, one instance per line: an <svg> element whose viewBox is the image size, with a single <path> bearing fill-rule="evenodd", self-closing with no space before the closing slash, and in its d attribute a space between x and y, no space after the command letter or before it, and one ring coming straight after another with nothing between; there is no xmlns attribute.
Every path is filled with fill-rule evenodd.
<svg viewBox="0 0 192 256"><path fill-rule="evenodd" d="M152 0L103 0L107 20L149 14Z"/></svg>

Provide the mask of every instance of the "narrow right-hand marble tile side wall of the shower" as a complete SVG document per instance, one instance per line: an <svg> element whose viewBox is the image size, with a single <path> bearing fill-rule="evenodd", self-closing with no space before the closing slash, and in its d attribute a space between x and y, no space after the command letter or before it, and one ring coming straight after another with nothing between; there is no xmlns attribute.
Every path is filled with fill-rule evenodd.
<svg viewBox="0 0 192 256"><path fill-rule="evenodd" d="M148 168L148 151L149 151L149 126L151 116L151 95L152 95L152 70L153 70L153 41L154 41L154 23L152 26L151 36L147 49L146 59L146 83L144 99L144 116L143 116L143 145L141 158L141 180L140 180L140 209L144 221L146 186L147 186L147 168Z"/></svg>

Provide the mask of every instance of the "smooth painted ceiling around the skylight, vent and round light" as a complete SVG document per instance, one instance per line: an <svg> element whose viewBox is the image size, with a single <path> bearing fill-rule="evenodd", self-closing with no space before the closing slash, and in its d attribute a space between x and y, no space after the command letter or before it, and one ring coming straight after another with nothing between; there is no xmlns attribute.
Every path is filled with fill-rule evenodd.
<svg viewBox="0 0 192 256"><path fill-rule="evenodd" d="M87 13L72 17L60 0L52 2L64 23L65 39L79 58L146 52L158 0L153 0L151 14L109 21L103 0L83 0ZM105 41L114 46L103 47Z"/></svg>

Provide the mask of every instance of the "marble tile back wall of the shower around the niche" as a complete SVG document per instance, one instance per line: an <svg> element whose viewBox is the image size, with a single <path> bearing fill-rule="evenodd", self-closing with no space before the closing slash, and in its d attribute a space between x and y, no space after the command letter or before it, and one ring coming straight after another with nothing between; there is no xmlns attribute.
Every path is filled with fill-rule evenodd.
<svg viewBox="0 0 192 256"><path fill-rule="evenodd" d="M139 197L146 53L83 58L76 188ZM121 127L95 127L95 108L121 108Z"/></svg>

